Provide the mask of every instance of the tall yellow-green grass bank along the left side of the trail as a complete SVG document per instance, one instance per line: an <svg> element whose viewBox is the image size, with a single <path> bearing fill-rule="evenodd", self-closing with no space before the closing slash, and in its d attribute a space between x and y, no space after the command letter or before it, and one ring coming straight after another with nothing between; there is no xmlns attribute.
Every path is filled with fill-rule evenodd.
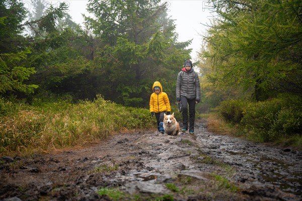
<svg viewBox="0 0 302 201"><path fill-rule="evenodd" d="M93 102L62 100L12 108L14 112L0 119L0 155L83 146L121 131L156 127L147 109L123 107L101 96Z"/></svg>

